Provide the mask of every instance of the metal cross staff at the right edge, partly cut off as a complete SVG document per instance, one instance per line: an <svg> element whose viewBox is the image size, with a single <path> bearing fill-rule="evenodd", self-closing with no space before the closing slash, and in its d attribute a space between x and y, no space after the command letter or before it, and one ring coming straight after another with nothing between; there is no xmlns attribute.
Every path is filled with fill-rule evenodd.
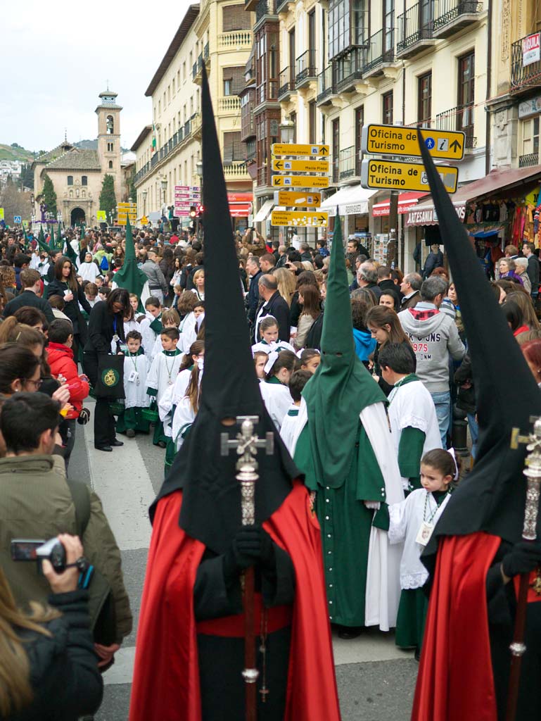
<svg viewBox="0 0 541 721"><path fill-rule="evenodd" d="M541 418L530 417L529 420L530 423L534 424L533 433L529 435L519 435L519 429L514 428L511 433L511 448L516 449L519 447L519 443L527 443L526 450L529 455L526 459L524 475L527 477L528 485L526 490L522 539L524 541L535 541L537 538L537 513L539 511L541 490ZM529 573L522 573L520 576L519 597L517 599L514 636L510 646L511 669L509 672L506 721L514 721L517 713L520 666L522 663L522 655L524 655L524 651L526 650L526 645L524 644L524 627L526 625L528 582Z"/></svg>

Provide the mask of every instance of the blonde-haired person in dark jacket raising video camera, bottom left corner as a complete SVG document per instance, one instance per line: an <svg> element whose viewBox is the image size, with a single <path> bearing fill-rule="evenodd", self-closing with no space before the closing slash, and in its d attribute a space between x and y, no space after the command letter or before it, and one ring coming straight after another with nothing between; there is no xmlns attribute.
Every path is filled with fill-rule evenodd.
<svg viewBox="0 0 541 721"><path fill-rule="evenodd" d="M75 721L97 711L103 681L92 645L89 592L79 590L81 541L61 534L66 570L43 559L52 595L47 606L17 608L0 568L0 717L6 721ZM35 573L35 568L33 569Z"/></svg>

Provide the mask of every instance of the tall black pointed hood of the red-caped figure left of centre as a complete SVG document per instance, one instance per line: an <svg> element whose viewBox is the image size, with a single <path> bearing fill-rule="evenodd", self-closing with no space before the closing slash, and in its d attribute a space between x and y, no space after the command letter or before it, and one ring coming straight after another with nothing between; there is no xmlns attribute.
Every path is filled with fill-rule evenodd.
<svg viewBox="0 0 541 721"><path fill-rule="evenodd" d="M274 433L274 455L258 451L256 521L272 516L299 476L264 408L251 355L220 146L205 68L202 71L202 162L205 208L205 369L201 404L192 428L156 500L182 488L179 525L216 553L228 549L241 526L237 455L220 456L224 418L257 415L257 434ZM151 518L156 502L151 506Z"/></svg>

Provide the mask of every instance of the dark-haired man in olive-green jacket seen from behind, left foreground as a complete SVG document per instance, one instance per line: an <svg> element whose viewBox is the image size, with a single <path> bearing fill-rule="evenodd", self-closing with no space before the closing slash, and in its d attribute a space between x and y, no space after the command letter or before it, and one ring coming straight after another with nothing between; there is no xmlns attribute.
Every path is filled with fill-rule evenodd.
<svg viewBox="0 0 541 721"><path fill-rule="evenodd" d="M43 393L19 392L4 402L0 433L6 456L0 459L0 567L18 606L45 602L48 584L27 563L13 563L12 539L78 535L94 566L89 609L100 668L131 632L132 613L117 547L99 497L84 483L66 481L53 448L60 406Z"/></svg>

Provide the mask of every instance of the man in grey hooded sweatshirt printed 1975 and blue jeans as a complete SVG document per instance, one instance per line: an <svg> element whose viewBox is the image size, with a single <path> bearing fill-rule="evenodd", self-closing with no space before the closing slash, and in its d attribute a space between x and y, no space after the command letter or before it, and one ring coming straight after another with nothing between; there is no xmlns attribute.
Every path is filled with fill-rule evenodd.
<svg viewBox="0 0 541 721"><path fill-rule="evenodd" d="M446 293L447 282L441 276L427 278L421 286L421 302L398 314L417 357L416 375L434 400L444 448L451 415L449 354L454 361L465 354L455 322L439 311Z"/></svg>

